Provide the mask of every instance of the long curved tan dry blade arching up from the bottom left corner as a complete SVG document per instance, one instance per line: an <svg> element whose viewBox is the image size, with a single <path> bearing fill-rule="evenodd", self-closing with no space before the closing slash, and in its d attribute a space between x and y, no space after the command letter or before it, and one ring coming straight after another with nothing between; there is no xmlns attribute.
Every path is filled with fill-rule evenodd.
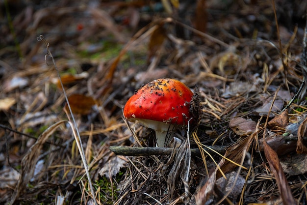
<svg viewBox="0 0 307 205"><path fill-rule="evenodd" d="M11 205L16 204L16 200L26 190L26 184L30 181L34 174L34 168L37 163L40 151L44 143L48 140L48 137L55 131L55 129L60 126L66 120L59 121L51 125L46 129L37 139L34 145L32 145L24 156L21 163L21 171L18 183L16 185L15 191L11 197Z"/></svg>

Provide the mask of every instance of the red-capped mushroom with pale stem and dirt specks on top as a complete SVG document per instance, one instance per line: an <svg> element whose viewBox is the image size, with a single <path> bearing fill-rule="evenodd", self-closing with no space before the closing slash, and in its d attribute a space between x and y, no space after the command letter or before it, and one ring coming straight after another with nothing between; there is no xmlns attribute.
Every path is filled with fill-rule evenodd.
<svg viewBox="0 0 307 205"><path fill-rule="evenodd" d="M192 97L190 88L178 80L154 80L128 99L124 116L154 129L157 146L164 146L167 130L188 124Z"/></svg>

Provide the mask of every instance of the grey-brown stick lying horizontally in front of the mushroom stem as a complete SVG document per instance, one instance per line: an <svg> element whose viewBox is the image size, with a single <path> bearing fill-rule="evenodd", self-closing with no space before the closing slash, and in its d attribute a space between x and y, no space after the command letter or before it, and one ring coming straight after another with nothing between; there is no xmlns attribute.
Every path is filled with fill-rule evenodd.
<svg viewBox="0 0 307 205"><path fill-rule="evenodd" d="M220 154L226 152L227 146L207 146ZM170 147L130 147L130 146L110 146L109 149L113 151L116 155L124 156L150 156L150 155L171 155L173 148ZM204 149L210 154L214 152L206 147ZM178 148L175 152L178 152ZM191 149L192 156L201 156L201 152L198 148Z"/></svg>

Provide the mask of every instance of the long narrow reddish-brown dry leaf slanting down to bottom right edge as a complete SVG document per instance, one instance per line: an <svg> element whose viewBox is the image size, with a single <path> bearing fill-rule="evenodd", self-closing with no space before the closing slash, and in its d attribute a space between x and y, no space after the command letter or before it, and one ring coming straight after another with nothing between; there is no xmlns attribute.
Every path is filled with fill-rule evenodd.
<svg viewBox="0 0 307 205"><path fill-rule="evenodd" d="M296 205L296 201L292 196L291 189L283 173L277 153L270 146L268 146L265 140L263 142L263 148L265 157L268 160L271 171L275 176L283 205Z"/></svg>

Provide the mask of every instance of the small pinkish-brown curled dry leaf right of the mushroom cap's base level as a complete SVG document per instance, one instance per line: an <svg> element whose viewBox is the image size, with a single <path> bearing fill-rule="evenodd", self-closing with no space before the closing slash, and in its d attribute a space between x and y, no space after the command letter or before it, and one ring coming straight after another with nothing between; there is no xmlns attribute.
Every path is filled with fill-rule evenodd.
<svg viewBox="0 0 307 205"><path fill-rule="evenodd" d="M239 136L250 135L256 130L256 122L243 117L232 118L229 122L229 127Z"/></svg>

